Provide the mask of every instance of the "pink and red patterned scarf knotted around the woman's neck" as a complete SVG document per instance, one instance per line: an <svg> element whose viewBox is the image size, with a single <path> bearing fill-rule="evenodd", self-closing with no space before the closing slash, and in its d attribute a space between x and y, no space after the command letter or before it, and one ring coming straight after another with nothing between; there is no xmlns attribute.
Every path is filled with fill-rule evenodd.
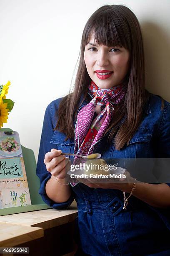
<svg viewBox="0 0 170 256"><path fill-rule="evenodd" d="M88 87L88 94L92 100L77 115L74 154L86 156L93 153L96 144L105 134L115 113L113 105L122 102L125 96L125 89L125 83L110 89L100 89L91 81ZM101 112L92 121L97 104L102 105ZM80 164L82 160L82 158L75 156L73 164ZM72 186L75 186L78 182L77 179L70 179Z"/></svg>

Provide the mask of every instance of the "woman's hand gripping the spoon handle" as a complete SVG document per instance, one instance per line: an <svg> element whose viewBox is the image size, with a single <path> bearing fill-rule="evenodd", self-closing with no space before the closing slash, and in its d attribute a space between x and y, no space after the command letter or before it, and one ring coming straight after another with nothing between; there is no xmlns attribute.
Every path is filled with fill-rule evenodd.
<svg viewBox="0 0 170 256"><path fill-rule="evenodd" d="M65 179L68 175L67 171L70 169L71 161L64 155L61 155L61 153L61 150L52 148L51 152L45 154L44 163L47 171L50 172L52 176L58 179Z"/></svg>

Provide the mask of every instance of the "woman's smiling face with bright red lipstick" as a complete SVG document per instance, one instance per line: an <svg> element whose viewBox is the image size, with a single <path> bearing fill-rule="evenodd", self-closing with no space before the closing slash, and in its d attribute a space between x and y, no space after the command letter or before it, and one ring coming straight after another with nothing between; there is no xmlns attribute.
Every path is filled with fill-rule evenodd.
<svg viewBox="0 0 170 256"><path fill-rule="evenodd" d="M99 88L108 89L123 82L129 68L130 53L124 47L97 45L91 38L85 46L84 60L92 81Z"/></svg>

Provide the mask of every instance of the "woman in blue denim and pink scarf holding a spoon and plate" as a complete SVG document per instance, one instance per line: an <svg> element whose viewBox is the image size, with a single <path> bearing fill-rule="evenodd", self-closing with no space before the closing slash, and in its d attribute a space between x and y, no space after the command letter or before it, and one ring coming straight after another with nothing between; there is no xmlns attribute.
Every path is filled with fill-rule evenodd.
<svg viewBox="0 0 170 256"><path fill-rule="evenodd" d="M77 255L170 254L169 184L134 177L112 184L69 182L70 161L62 152L170 157L170 103L145 90L140 25L125 6L105 5L92 14L74 91L47 106L37 162L40 195L55 209L76 200Z"/></svg>

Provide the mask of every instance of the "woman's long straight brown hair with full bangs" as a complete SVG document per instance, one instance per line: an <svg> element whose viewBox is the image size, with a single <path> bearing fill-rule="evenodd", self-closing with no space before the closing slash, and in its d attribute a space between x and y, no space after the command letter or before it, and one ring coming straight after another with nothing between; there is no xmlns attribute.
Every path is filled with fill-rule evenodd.
<svg viewBox="0 0 170 256"><path fill-rule="evenodd" d="M140 24L135 14L124 5L104 5L100 7L87 20L82 33L80 47L80 61L75 78L74 90L65 96L59 105L57 124L54 130L59 130L68 138L74 136L74 120L80 104L87 97L88 84L91 79L87 73L84 61L84 50L91 36L94 36L97 44L108 47L125 47L130 52L130 69L126 76L128 87L125 92L125 100L117 105L117 115L112 119L107 131L112 129L108 137L114 138L115 148L120 150L140 125L143 117L143 107L150 93L145 90L145 70L143 38ZM84 95L80 102L81 95ZM122 125L116 128L116 124L125 116ZM105 133L107 133L107 131Z"/></svg>

